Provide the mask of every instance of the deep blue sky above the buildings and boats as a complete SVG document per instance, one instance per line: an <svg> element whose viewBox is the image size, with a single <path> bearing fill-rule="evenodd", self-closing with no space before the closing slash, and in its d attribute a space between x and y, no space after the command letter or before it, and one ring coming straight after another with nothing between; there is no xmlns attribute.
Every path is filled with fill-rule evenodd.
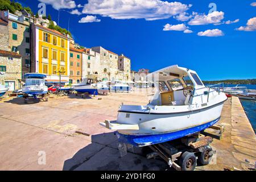
<svg viewBox="0 0 256 182"><path fill-rule="evenodd" d="M47 3L46 13L56 22L60 9L61 27L68 29L70 19L75 42L124 53L135 71L178 64L202 80L256 78L256 0L39 1ZM18 2L36 13L39 1ZM212 2L216 11L209 13ZM81 14L70 14L73 10Z"/></svg>

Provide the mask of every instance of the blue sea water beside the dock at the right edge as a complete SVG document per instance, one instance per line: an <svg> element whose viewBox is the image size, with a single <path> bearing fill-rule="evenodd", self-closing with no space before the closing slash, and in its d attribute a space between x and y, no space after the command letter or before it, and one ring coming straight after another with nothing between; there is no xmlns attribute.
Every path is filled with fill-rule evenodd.
<svg viewBox="0 0 256 182"><path fill-rule="evenodd" d="M236 85L233 84L224 84L224 87L233 87ZM238 86L246 86L247 89L254 89L256 90L256 85L243 85L240 84ZM256 133L256 101L244 100L240 99L240 102L245 110L245 113L253 127L254 132Z"/></svg>

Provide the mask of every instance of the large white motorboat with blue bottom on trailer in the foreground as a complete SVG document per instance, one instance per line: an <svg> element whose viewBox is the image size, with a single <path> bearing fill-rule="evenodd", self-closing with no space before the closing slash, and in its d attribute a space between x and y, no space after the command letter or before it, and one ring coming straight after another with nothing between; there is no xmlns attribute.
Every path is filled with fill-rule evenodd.
<svg viewBox="0 0 256 182"><path fill-rule="evenodd" d="M207 129L220 119L228 98L204 86L195 71L173 65L152 75L158 91L149 104L121 105L117 121L100 123L117 130L119 142L138 147L163 143ZM182 87L176 84L173 89L173 81Z"/></svg>

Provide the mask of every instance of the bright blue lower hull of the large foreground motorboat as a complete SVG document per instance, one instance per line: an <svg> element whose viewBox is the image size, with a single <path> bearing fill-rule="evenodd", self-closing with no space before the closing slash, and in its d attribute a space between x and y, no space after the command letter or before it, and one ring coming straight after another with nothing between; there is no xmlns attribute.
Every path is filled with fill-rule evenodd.
<svg viewBox="0 0 256 182"><path fill-rule="evenodd" d="M116 131L116 134L117 134L117 138L118 138L119 142L129 143L136 147L142 147L142 146L148 146L151 144L168 142L170 140L174 140L177 138L185 137L187 135L195 134L199 131L205 130L208 127L214 125L216 122L218 122L219 119L220 118L217 118L208 123L204 123L203 125L191 127L189 129L174 131L172 133L153 134L153 135L123 135L123 134L118 133L118 131Z"/></svg>

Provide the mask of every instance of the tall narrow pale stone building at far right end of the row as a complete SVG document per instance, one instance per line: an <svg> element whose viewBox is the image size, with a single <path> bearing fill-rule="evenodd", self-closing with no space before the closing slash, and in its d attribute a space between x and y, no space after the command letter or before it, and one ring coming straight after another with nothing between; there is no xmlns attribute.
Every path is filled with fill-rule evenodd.
<svg viewBox="0 0 256 182"><path fill-rule="evenodd" d="M131 80L131 60L129 57L121 54L118 56L118 70L121 71L118 75L122 77L123 81ZM119 79L120 80L120 79Z"/></svg>

